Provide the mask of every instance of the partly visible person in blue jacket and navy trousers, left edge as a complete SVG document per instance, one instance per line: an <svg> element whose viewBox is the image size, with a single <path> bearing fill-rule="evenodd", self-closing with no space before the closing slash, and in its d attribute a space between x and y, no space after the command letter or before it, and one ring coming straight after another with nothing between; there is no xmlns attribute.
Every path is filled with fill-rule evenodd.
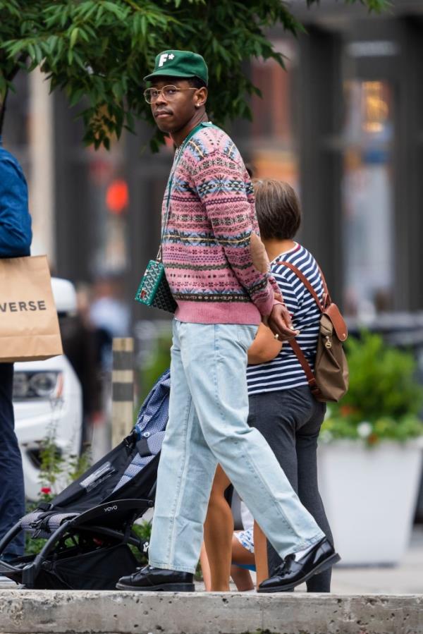
<svg viewBox="0 0 423 634"><path fill-rule="evenodd" d="M0 137L0 257L30 255L31 240L25 176L16 158L2 147ZM15 434L12 391L13 363L0 362L0 539L25 514L22 457ZM9 544L3 559L8 561L20 554L23 554L23 538Z"/></svg>

